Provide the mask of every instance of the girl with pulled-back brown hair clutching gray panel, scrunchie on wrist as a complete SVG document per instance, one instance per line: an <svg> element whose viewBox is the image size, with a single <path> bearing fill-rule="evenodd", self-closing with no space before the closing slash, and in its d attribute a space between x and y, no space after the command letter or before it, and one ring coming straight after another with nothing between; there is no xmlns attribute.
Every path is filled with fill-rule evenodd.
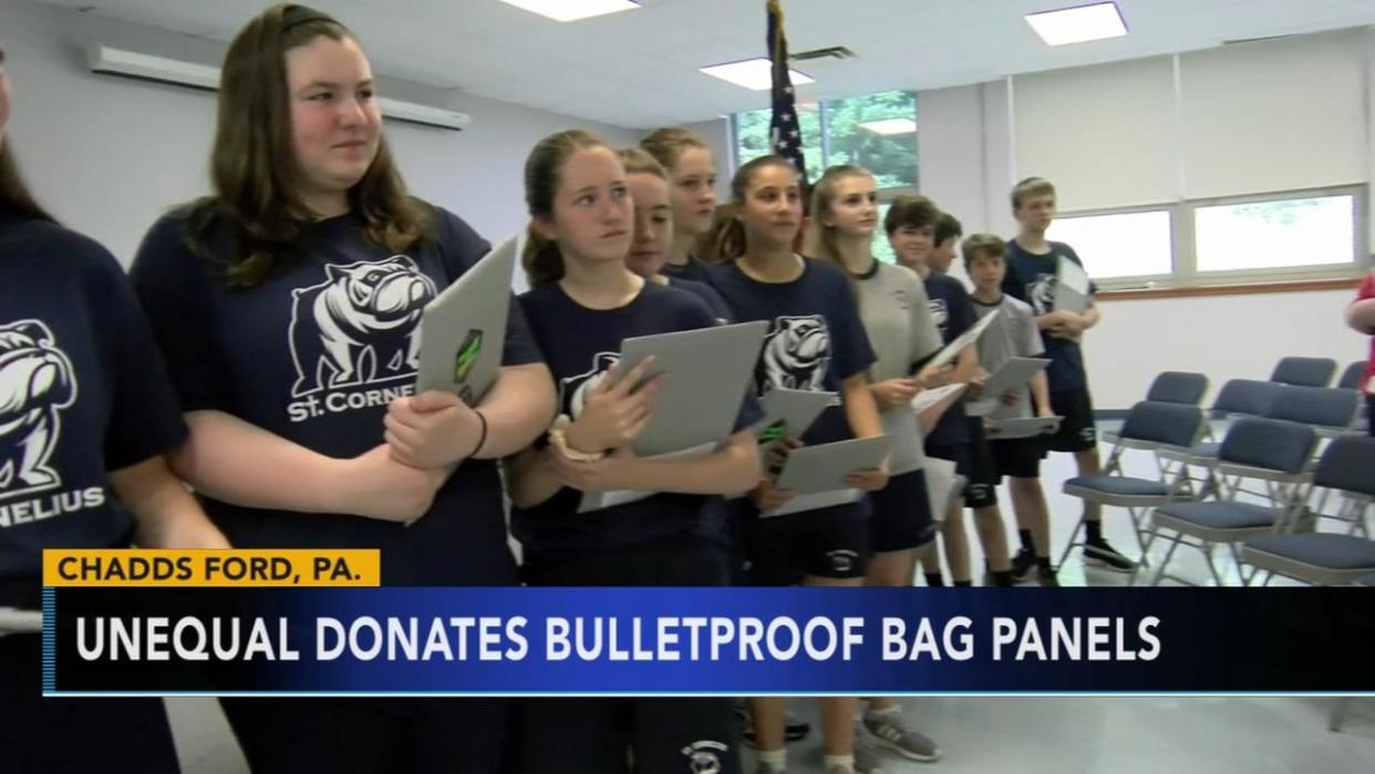
<svg viewBox="0 0 1375 774"><path fill-rule="evenodd" d="M622 341L704 329L716 315L692 293L626 267L635 201L606 143L566 131L540 140L525 162L531 214L520 297L535 341L558 384L562 412L549 443L513 459L512 527L532 586L726 586L722 511L712 495L748 489L759 477L741 401L734 434L696 459L637 458L659 379L648 363L623 367ZM664 377L660 377L660 379ZM671 375L667 378L672 378ZM653 492L579 513L584 492ZM734 718L720 698L542 698L517 725L522 774L737 771Z"/></svg>

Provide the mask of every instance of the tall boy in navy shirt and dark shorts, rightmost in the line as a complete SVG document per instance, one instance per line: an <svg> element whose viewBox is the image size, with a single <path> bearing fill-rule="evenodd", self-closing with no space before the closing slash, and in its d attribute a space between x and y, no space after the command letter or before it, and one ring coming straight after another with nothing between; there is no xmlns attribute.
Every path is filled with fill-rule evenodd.
<svg viewBox="0 0 1375 774"><path fill-rule="evenodd" d="M1042 177L1027 177L1012 188L1012 214L1020 224L1016 238L1008 242L1008 276L1002 290L1031 305L1037 326L1045 342L1050 366L1046 379L1050 384L1050 407L1064 419L1060 430L1048 437L1046 448L1074 454L1079 476L1097 476L1103 470L1099 459L1099 436L1093 423L1093 399L1084 371L1084 353L1079 338L1084 331L1099 324L1099 308L1092 300L1096 291L1090 286L1088 309L1082 315L1055 309L1055 283L1060 261L1074 261L1082 265L1074 247L1063 242L1049 242L1046 228L1055 219L1055 186ZM1084 558L1090 564L1116 572L1132 572L1136 562L1116 551L1103 538L1103 507L1096 503L1084 505L1084 521L1088 529L1088 544ZM1034 558L1019 554L1015 572L1030 571Z"/></svg>

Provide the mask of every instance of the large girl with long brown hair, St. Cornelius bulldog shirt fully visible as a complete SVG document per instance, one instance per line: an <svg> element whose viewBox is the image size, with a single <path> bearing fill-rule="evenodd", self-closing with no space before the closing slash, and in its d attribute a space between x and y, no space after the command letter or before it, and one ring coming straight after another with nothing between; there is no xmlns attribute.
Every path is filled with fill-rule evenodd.
<svg viewBox="0 0 1375 774"><path fill-rule="evenodd" d="M221 71L213 192L132 271L191 428L177 472L235 544L380 549L386 586L516 583L495 461L553 417L520 309L477 406L411 395L421 309L487 242L407 195L329 15L263 11ZM499 766L499 700L221 704L254 770Z"/></svg>

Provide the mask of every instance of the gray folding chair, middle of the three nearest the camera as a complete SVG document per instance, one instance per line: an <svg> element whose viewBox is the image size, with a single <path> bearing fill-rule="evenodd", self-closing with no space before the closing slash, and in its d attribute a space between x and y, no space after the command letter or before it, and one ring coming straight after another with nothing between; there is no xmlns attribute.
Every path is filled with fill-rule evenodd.
<svg viewBox="0 0 1375 774"><path fill-rule="evenodd" d="M1174 538L1151 586L1159 586L1166 579L1194 586L1188 579L1169 573L1170 560L1181 544L1198 549L1207 561L1213 580L1224 586L1222 575L1213 562L1214 546L1228 546L1232 560L1240 568L1236 550L1239 543L1291 525L1308 499L1312 477L1305 467L1316 445L1317 434L1306 425L1275 419L1242 419L1233 425L1222 440L1218 462L1213 469L1220 484L1218 499L1173 502L1152 513L1147 547L1156 535L1173 532ZM1244 480L1262 481L1269 505L1238 502Z"/></svg>

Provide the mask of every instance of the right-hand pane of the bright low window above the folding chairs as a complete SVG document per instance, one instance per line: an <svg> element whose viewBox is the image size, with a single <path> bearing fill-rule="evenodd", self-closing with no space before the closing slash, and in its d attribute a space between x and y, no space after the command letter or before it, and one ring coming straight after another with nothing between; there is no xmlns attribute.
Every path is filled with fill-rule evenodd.
<svg viewBox="0 0 1375 774"><path fill-rule="evenodd" d="M1198 271L1349 264L1354 208L1350 194L1200 206L1194 210Z"/></svg>

